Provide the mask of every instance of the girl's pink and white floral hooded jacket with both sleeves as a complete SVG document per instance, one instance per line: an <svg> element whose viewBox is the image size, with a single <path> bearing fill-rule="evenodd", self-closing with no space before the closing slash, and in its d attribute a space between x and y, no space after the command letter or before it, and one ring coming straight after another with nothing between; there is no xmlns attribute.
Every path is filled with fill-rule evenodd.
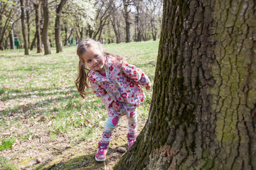
<svg viewBox="0 0 256 170"><path fill-rule="evenodd" d="M112 101L126 103L129 108L136 108L144 101L145 95L139 85L149 85L150 81L141 69L107 56L105 71L106 77L90 70L89 77L92 90L107 108Z"/></svg>

